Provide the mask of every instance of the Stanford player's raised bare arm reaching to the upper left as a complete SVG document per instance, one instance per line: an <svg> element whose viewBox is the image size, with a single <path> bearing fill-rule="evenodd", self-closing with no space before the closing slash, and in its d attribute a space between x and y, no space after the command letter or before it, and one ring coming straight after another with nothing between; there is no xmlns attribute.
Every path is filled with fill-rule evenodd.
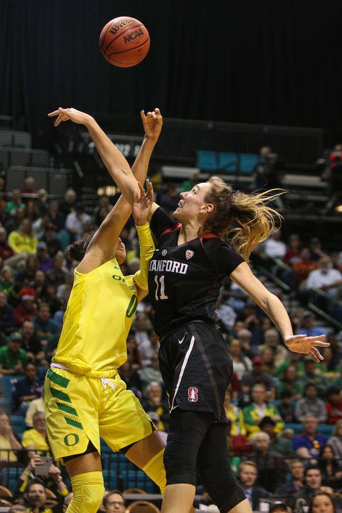
<svg viewBox="0 0 342 513"><path fill-rule="evenodd" d="M48 116L58 116L54 126L58 126L62 121L71 120L87 127L96 148L100 154L103 164L110 172L113 180L119 187L125 199L132 205L135 192L140 192L137 180L132 174L129 163L122 153L116 148L109 137L96 123L94 118L85 112L76 109L63 109L50 112Z"/></svg>

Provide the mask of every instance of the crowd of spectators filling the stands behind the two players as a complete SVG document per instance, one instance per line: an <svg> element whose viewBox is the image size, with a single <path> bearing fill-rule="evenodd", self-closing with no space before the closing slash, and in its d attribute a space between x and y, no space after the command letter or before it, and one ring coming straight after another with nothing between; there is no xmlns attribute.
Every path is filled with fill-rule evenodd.
<svg viewBox="0 0 342 513"><path fill-rule="evenodd" d="M157 201L172 212L178 192L170 186ZM24 468L14 495L25 498L22 502L29 511L32 504L39 508L46 501L47 483L57 502L60 499L58 507L67 497L70 501L70 484L64 482L67 477L58 466L51 464L45 481L33 476L41 456L51 456L44 378L58 344L77 265L69 246L93 232L112 206L101 197L91 216L75 191L68 190L61 202L49 201L46 191L35 191L33 179L27 179L22 190L14 190L7 203L0 200L0 374L2 384L3 379L11 383L10 404L4 403L0 411L0 460ZM124 273L132 274L139 267L133 221L127 223L121 239L127 254ZM305 241L297 234L285 242L281 230L274 230L254 251L252 263L276 274L290 286L291 298L300 301L289 312L294 333L326 334L331 345L323 349L325 360L320 363L289 352L257 304L229 278L225 280L217 315L234 370L225 400L234 475L253 509L269 497L281 498L294 513L306 513L309 506L318 513L312 501L329 502L331 497L335 508L342 490L341 346L339 333L319 326L307 305L313 301L334 319L342 319L342 252L329 254L319 240ZM314 287L324 295L317 296ZM138 305L126 343L127 361L120 376L166 439L168 403L148 296ZM22 432L12 429L12 416L22 417ZM112 511L111 499L124 507L120 497L117 490L110 492L101 511Z"/></svg>

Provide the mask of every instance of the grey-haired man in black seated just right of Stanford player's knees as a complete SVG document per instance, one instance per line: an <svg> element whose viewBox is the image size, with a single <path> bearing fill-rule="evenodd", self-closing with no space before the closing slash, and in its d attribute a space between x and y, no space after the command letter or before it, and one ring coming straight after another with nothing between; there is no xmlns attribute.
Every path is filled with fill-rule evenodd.
<svg viewBox="0 0 342 513"><path fill-rule="evenodd" d="M254 451L248 455L248 459L257 464L257 485L273 494L286 479L284 458L279 452L269 449L270 437L265 431L254 433L252 442Z"/></svg>

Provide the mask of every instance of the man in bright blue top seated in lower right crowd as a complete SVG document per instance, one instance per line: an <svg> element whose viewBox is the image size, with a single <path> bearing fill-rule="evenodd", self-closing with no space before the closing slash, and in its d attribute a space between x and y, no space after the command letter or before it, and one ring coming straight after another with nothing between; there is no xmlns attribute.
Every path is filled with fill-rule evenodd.
<svg viewBox="0 0 342 513"><path fill-rule="evenodd" d="M312 415L307 415L302 423L303 433L292 440L292 449L304 460L317 459L320 448L327 439L317 432L318 421Z"/></svg>

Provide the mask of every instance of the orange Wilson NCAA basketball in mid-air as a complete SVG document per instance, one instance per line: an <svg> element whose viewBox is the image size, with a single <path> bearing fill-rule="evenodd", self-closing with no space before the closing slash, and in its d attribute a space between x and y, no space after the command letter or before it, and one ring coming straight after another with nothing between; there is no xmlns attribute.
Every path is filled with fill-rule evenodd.
<svg viewBox="0 0 342 513"><path fill-rule="evenodd" d="M120 16L112 19L100 34L103 57L114 66L130 68L139 64L149 49L146 27L135 18Z"/></svg>

